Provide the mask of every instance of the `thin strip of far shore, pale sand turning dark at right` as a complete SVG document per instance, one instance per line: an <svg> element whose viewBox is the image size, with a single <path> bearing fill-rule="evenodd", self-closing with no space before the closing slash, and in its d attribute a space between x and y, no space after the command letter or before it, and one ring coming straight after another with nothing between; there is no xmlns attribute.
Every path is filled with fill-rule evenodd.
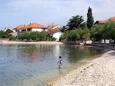
<svg viewBox="0 0 115 86"><path fill-rule="evenodd" d="M0 44L3 45L15 45L15 44L21 44L21 45L37 45L37 44L43 44L43 45L63 45L67 44L65 42L59 42L59 41L35 41L35 42L25 42L25 41L10 41L8 39L0 39ZM110 51L110 50L115 50L115 44L102 44L102 43L93 43L93 44L85 44L85 45L80 45L80 44L67 44L67 45L74 45L74 46L86 46L86 47L94 47L97 49L101 49L103 51Z"/></svg>

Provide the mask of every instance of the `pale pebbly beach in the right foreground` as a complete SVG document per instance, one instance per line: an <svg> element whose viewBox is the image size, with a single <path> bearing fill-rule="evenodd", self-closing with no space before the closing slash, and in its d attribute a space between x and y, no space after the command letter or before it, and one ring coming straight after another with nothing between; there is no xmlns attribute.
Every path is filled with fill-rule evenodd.
<svg viewBox="0 0 115 86"><path fill-rule="evenodd" d="M114 86L115 51L104 53L90 63L77 68L46 86Z"/></svg>

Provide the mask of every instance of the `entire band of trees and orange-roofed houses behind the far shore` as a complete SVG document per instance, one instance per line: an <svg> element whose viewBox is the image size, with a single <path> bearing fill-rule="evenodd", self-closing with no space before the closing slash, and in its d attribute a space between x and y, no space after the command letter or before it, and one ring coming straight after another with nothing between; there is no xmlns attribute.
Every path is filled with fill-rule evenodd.
<svg viewBox="0 0 115 86"><path fill-rule="evenodd" d="M106 21L94 21L91 7L88 8L87 21L81 15L72 16L63 27L44 26L37 23L19 25L0 31L0 38L13 41L40 42L61 41L86 43L115 43L115 17Z"/></svg>

